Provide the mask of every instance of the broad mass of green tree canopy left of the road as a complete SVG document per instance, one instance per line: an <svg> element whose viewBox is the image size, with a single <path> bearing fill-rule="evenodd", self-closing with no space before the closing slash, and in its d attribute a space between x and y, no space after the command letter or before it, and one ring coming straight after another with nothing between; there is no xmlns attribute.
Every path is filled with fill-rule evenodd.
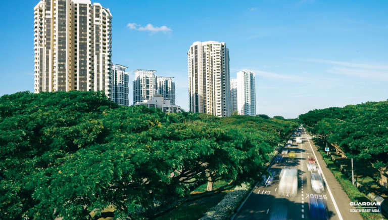
<svg viewBox="0 0 388 220"><path fill-rule="evenodd" d="M164 114L94 92L0 98L0 216L142 218L213 181L252 181L297 124Z"/></svg>

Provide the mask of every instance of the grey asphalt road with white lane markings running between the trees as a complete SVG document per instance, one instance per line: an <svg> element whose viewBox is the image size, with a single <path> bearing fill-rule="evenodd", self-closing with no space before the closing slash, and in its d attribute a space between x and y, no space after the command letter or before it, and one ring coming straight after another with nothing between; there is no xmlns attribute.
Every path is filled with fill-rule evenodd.
<svg viewBox="0 0 388 220"><path fill-rule="evenodd" d="M350 199L326 167L311 137L303 130L301 138L302 144L296 144L294 138L293 145L288 147L290 152L296 153L296 158L285 157L282 162L273 163L268 169L274 173L272 184L267 187L258 185L234 219L313 219L309 214L309 197L326 202L328 219L362 219L359 213L350 212ZM315 193L311 188L310 172L307 170L308 157L315 158L317 166L322 170L325 181L325 191L322 193ZM279 173L283 167L298 169L298 193L295 197L278 194Z"/></svg>

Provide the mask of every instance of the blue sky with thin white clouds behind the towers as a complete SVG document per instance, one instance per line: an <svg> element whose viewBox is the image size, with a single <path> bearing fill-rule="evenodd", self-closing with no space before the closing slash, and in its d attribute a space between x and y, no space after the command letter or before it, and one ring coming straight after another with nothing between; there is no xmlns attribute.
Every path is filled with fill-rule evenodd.
<svg viewBox="0 0 388 220"><path fill-rule="evenodd" d="M92 1L93 2L93 1ZM113 14L113 62L176 80L188 108L187 50L226 42L231 77L256 72L257 114L388 99L388 1L100 0ZM0 96L33 90L34 0L0 1ZM130 24L130 25L128 25ZM132 100L130 89L130 103Z"/></svg>

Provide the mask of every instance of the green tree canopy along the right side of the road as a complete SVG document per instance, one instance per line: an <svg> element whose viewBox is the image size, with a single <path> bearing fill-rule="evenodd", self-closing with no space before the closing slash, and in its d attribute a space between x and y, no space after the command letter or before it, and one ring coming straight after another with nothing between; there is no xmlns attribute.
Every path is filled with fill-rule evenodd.
<svg viewBox="0 0 388 220"><path fill-rule="evenodd" d="M299 119L349 157L388 165L388 101L312 110Z"/></svg>

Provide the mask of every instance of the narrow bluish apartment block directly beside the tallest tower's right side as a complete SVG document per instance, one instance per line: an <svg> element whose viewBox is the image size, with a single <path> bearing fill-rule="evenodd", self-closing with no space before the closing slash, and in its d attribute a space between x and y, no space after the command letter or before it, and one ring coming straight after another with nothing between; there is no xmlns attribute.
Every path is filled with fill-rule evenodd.
<svg viewBox="0 0 388 220"><path fill-rule="evenodd" d="M128 68L123 65L113 65L112 101L119 105L129 106L129 76L125 72Z"/></svg>

